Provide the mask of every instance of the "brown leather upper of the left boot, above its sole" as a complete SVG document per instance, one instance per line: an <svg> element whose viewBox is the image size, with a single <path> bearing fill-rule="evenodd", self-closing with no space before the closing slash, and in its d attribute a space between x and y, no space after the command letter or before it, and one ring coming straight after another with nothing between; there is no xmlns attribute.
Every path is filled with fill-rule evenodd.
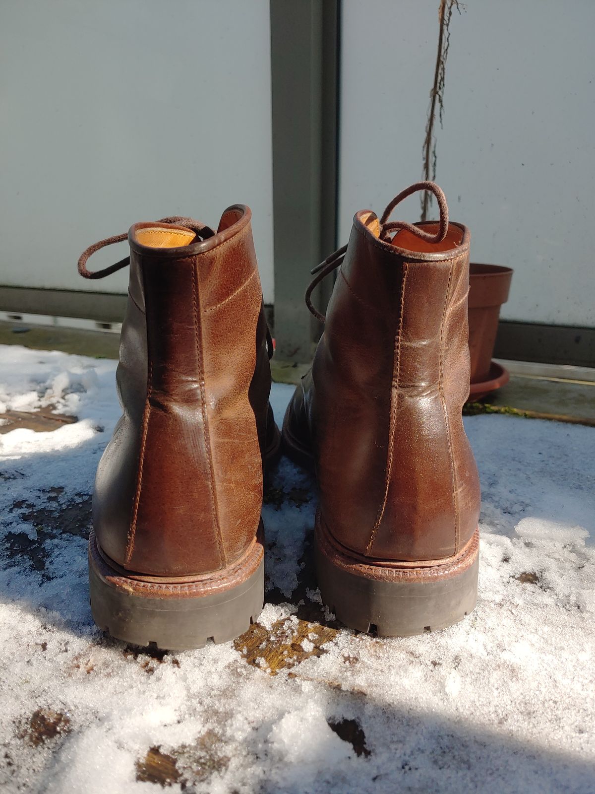
<svg viewBox="0 0 595 794"><path fill-rule="evenodd" d="M102 550L155 576L217 571L244 553L260 521L261 449L275 432L250 210L226 210L205 241L187 234L155 223L129 231L123 414L93 499Z"/></svg>

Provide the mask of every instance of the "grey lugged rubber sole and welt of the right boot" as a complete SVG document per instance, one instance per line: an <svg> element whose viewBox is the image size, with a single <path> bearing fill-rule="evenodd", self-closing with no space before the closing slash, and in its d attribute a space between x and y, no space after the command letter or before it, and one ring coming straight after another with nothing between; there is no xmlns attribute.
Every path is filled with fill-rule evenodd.
<svg viewBox="0 0 595 794"><path fill-rule="evenodd" d="M438 565L368 565L339 549L317 514L314 555L323 603L336 619L383 637L410 637L451 626L474 610L478 595L479 531Z"/></svg>

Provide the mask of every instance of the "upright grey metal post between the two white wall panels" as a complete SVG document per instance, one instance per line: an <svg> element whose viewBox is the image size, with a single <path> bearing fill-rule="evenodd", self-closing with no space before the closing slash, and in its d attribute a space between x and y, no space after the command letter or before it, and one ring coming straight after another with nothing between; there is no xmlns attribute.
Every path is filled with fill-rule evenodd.
<svg viewBox="0 0 595 794"><path fill-rule="evenodd" d="M310 268L336 248L339 0L271 0L276 356L304 363L320 333ZM315 298L328 302L331 279Z"/></svg>

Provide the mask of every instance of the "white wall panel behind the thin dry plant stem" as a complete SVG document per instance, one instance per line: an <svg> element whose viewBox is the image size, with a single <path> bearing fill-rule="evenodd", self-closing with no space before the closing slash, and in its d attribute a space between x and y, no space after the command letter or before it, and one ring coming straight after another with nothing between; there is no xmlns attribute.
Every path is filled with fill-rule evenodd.
<svg viewBox="0 0 595 794"><path fill-rule="evenodd" d="M465 6L437 130L451 218L472 260L515 268L504 318L595 326L595 2ZM380 214L420 179L438 7L344 0L340 241L355 210ZM402 212L418 220L417 198Z"/></svg>

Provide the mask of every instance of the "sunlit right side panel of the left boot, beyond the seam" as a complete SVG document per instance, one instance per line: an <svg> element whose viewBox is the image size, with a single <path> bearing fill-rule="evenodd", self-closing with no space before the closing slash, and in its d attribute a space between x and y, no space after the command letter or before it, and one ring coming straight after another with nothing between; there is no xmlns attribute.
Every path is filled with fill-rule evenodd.
<svg viewBox="0 0 595 794"><path fill-rule="evenodd" d="M271 367L250 226L230 241L225 256L203 256L199 279L225 283L235 268L240 283L202 303L202 351L217 512L226 560L244 552L259 526L263 462L259 438L267 434ZM199 292L207 295L207 284Z"/></svg>

